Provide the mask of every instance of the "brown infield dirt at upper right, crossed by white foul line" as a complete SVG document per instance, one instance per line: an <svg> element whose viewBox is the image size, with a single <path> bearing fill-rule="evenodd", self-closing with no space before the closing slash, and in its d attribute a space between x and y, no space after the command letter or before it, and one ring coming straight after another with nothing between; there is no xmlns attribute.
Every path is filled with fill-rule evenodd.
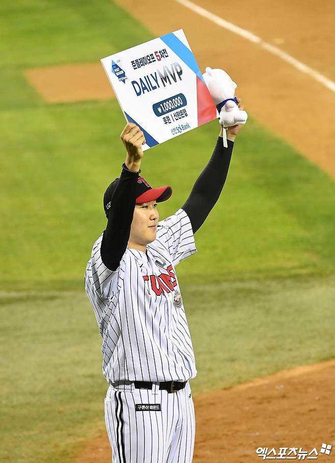
<svg viewBox="0 0 335 463"><path fill-rule="evenodd" d="M223 29L177 2L118 0L155 36L184 29L200 69L225 69L245 109L335 178L335 93L258 44ZM335 78L335 3L197 0L197 5L280 47ZM280 45L279 45L280 44Z"/></svg>

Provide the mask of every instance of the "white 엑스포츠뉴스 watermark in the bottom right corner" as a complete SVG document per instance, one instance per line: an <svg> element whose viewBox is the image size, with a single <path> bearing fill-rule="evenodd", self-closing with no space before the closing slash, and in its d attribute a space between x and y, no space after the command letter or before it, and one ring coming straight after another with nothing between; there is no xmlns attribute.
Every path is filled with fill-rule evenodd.
<svg viewBox="0 0 335 463"><path fill-rule="evenodd" d="M331 445L322 444L319 452L316 447L312 450L303 450L302 447L279 447L278 451L274 447L258 447L256 453L263 457L263 460L316 460L318 455L324 453L330 455Z"/></svg>

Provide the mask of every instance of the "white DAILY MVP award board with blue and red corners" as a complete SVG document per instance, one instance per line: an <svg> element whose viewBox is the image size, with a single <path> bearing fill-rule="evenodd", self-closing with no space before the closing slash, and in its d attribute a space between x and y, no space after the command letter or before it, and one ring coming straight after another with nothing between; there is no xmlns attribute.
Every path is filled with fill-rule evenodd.
<svg viewBox="0 0 335 463"><path fill-rule="evenodd" d="M101 59L124 116L151 148L218 117L182 29Z"/></svg>

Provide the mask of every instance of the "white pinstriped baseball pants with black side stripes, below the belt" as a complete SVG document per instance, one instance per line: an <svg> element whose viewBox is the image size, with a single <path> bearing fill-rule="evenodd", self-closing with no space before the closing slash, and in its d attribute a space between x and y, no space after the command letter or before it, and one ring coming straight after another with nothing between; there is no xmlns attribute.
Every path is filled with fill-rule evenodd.
<svg viewBox="0 0 335 463"><path fill-rule="evenodd" d="M196 421L191 389L168 393L135 389L132 383L109 386L105 422L113 463L191 463Z"/></svg>

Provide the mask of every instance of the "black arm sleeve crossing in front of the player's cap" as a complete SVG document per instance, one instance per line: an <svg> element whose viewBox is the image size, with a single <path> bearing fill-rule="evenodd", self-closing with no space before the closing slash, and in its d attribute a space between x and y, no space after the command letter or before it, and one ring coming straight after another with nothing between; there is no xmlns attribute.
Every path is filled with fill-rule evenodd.
<svg viewBox="0 0 335 463"><path fill-rule="evenodd" d="M101 260L115 271L124 255L130 236L130 227L136 202L137 172L122 169L117 187L111 198L108 222L101 241Z"/></svg>

